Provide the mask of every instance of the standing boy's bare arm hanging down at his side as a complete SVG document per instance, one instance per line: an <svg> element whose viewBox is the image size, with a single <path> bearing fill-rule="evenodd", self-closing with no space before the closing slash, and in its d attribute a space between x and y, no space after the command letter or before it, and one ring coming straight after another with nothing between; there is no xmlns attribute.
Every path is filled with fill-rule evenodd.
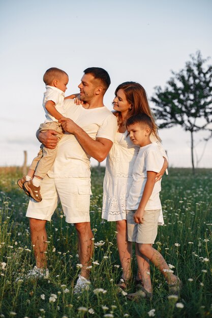
<svg viewBox="0 0 212 318"><path fill-rule="evenodd" d="M153 193L153 188L156 183L156 172L154 171L147 171L147 180L144 186L143 195L141 201L139 203L138 209L134 214L134 221L136 223L143 223L143 213L145 210L145 206Z"/></svg>

